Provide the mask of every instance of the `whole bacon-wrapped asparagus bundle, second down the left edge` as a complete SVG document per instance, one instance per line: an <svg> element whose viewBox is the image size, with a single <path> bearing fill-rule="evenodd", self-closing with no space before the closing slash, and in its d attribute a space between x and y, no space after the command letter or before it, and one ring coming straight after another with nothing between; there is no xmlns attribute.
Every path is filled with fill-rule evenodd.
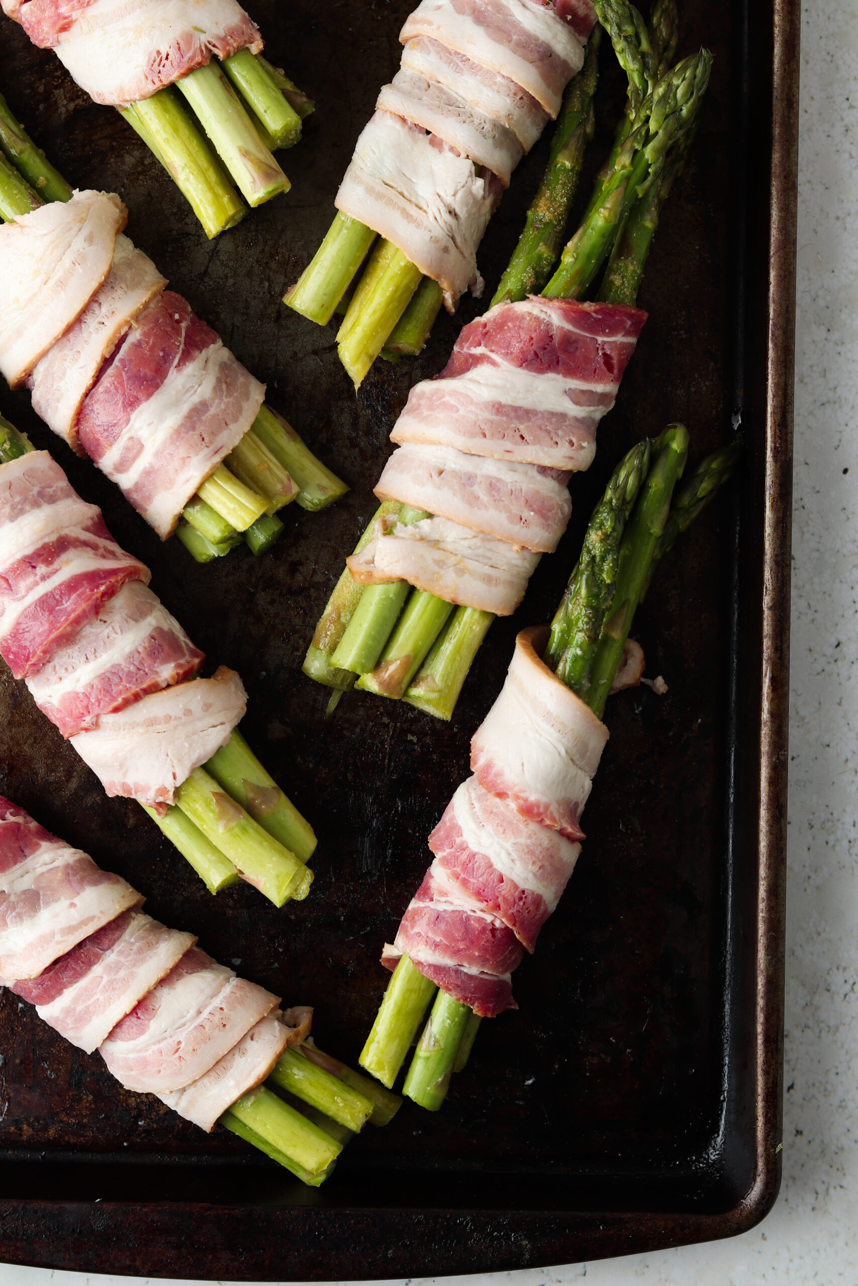
<svg viewBox="0 0 858 1286"><path fill-rule="evenodd" d="M48 426L199 562L242 541L262 553L286 504L315 512L343 495L123 235L120 198L64 192L42 206L21 154L12 162L6 183L0 170L0 370L30 387Z"/></svg>

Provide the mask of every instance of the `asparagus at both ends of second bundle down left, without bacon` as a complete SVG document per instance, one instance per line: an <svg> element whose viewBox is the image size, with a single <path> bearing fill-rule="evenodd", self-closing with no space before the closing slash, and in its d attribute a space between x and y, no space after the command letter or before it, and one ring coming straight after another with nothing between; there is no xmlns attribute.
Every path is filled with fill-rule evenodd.
<svg viewBox="0 0 858 1286"><path fill-rule="evenodd" d="M69 184L35 145L0 95L0 220L10 222L46 202L68 201L71 195ZM224 557L239 544L261 554L284 530L278 517L284 505L295 502L318 513L347 490L292 426L262 405L226 462L183 509L176 535L197 562Z"/></svg>

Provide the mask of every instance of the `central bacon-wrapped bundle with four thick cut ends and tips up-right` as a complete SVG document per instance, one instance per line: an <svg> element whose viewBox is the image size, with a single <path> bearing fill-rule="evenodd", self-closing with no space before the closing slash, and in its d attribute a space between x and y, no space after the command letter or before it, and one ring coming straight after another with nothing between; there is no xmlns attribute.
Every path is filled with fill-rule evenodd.
<svg viewBox="0 0 858 1286"><path fill-rule="evenodd" d="M497 303L412 388L376 487L382 509L316 626L310 678L341 693L356 674L359 688L452 716L494 616L516 610L566 530L566 484L593 460L646 320L643 265L710 66L701 50L641 100L543 297ZM615 243L599 300L583 302ZM533 243L543 275L547 244Z"/></svg>

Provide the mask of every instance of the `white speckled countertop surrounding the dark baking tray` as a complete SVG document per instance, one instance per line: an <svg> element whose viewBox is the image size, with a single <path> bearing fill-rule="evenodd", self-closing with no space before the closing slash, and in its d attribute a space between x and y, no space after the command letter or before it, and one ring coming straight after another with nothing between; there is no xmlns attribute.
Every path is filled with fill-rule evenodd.
<svg viewBox="0 0 858 1286"><path fill-rule="evenodd" d="M858 1281L858 4L801 30L783 1186L732 1241L457 1281ZM853 666L855 669L853 670ZM0 1286L82 1286L0 1265ZM94 1278L103 1286L129 1278ZM453 1281L453 1278L450 1278ZM394 1286L394 1283L390 1283ZM396 1283L399 1286L399 1283ZM412 1281L409 1286L417 1286Z"/></svg>

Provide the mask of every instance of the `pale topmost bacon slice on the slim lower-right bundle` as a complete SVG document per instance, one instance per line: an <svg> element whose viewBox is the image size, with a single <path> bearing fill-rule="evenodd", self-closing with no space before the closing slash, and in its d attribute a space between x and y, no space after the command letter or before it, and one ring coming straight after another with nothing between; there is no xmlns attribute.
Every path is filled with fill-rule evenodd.
<svg viewBox="0 0 858 1286"><path fill-rule="evenodd" d="M542 661L548 630L522 630L500 696L471 741L480 784L570 840L608 738L589 706Z"/></svg>

